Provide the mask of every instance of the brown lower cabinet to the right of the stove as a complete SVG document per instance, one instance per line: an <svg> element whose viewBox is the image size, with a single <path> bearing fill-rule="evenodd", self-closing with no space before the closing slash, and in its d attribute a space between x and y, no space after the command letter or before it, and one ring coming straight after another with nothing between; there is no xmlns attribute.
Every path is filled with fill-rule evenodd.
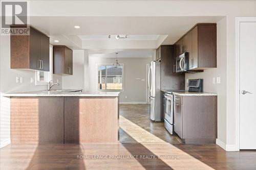
<svg viewBox="0 0 256 170"><path fill-rule="evenodd" d="M174 131L185 143L215 143L217 96L174 95Z"/></svg>

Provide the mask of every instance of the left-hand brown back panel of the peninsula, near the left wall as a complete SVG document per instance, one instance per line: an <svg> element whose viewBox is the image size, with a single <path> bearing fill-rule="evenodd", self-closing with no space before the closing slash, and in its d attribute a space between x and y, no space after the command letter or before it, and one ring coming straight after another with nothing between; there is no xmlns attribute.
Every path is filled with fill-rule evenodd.
<svg viewBox="0 0 256 170"><path fill-rule="evenodd" d="M62 97L12 97L11 143L63 143Z"/></svg>

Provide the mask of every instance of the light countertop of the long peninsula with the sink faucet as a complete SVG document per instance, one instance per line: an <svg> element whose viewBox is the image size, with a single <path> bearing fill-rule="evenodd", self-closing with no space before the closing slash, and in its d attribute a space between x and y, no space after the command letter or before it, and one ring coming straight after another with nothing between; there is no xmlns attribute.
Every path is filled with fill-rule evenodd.
<svg viewBox="0 0 256 170"><path fill-rule="evenodd" d="M82 91L75 92L80 89L61 89L61 90L43 90L43 91L28 91L28 92L15 92L5 93L3 96L118 96L119 91Z"/></svg>

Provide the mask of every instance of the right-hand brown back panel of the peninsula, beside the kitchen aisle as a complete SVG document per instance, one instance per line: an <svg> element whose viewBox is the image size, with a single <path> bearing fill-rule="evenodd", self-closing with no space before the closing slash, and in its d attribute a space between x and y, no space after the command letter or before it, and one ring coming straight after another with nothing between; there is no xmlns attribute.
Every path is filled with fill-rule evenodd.
<svg viewBox="0 0 256 170"><path fill-rule="evenodd" d="M117 143L118 97L65 97L65 143Z"/></svg>

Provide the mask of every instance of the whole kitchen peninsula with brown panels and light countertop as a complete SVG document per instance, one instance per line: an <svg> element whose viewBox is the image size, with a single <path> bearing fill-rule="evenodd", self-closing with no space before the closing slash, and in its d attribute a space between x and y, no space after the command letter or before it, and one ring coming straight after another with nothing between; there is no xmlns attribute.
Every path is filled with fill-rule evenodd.
<svg viewBox="0 0 256 170"><path fill-rule="evenodd" d="M8 93L11 143L117 143L119 92Z"/></svg>

